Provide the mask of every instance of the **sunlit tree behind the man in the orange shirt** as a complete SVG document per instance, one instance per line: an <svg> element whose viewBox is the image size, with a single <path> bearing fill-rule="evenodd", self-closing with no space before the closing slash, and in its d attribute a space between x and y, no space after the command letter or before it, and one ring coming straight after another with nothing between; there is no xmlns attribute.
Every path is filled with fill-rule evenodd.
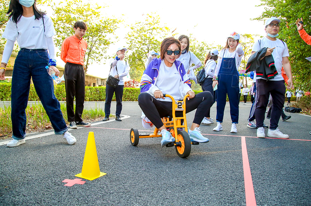
<svg viewBox="0 0 311 206"><path fill-rule="evenodd" d="M56 30L55 45L61 47L65 38L74 34L73 24L80 20L87 24L87 31L83 37L87 42L86 55L84 57L84 69L87 72L88 65L98 62L112 43L109 34L114 35L118 28L117 19L110 19L101 14L102 6L98 4L82 3L81 0L64 0L55 4L52 0L44 1L53 8L52 21Z"/></svg>

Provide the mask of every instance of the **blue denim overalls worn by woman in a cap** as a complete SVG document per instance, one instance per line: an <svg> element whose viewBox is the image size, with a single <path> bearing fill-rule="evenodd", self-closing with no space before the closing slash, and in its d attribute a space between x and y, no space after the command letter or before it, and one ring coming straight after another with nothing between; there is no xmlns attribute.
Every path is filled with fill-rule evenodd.
<svg viewBox="0 0 311 206"><path fill-rule="evenodd" d="M224 55L218 72L216 121L221 123L224 119L226 97L228 95L231 121L237 124L239 122L239 73L235 64L236 53L233 58L224 58Z"/></svg>

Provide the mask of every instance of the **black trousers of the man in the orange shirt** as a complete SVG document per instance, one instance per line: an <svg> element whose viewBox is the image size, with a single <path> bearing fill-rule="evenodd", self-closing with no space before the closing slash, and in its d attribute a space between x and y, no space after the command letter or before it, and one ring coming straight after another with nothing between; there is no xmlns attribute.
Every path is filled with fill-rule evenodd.
<svg viewBox="0 0 311 206"><path fill-rule="evenodd" d="M84 67L67 62L65 65L66 108L68 122L81 122L85 98ZM76 111L73 110L73 100L76 96Z"/></svg>

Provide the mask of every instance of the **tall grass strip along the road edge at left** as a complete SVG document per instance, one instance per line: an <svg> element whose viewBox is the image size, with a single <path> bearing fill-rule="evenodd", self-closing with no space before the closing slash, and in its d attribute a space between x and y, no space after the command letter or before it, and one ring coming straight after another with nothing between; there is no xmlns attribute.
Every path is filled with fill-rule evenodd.
<svg viewBox="0 0 311 206"><path fill-rule="evenodd" d="M66 124L69 124L67 119L66 104L60 104L60 109L63 113ZM75 106L74 106L75 109ZM95 103L95 108L90 110L83 110L82 119L85 122L98 121L104 118L104 110L97 106ZM110 114L112 117L113 115ZM47 129L52 129L51 122L48 115L46 114L43 106L41 104L32 104L26 108L26 133L29 132L41 132ZM7 139L12 137L12 119L11 119L11 107L6 107L4 109L0 108L0 139Z"/></svg>

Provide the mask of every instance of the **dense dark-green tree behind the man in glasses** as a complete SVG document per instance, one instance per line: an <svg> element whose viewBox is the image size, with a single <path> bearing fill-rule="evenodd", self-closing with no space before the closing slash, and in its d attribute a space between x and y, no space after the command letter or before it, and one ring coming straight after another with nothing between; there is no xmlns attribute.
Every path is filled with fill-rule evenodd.
<svg viewBox="0 0 311 206"><path fill-rule="evenodd" d="M311 33L311 2L309 0L261 0L265 10L262 15L253 20L266 20L275 16L281 20L280 32L277 38L283 40L290 52L290 64L296 88L304 91L311 90L311 63L304 59L311 56L311 47L307 45L299 36L295 21L302 17L304 29Z"/></svg>

